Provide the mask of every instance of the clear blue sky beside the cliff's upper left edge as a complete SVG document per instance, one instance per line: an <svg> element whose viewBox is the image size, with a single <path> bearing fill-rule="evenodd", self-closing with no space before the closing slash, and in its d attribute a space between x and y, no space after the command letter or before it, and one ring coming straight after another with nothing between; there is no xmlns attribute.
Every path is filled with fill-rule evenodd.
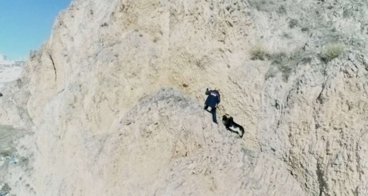
<svg viewBox="0 0 368 196"><path fill-rule="evenodd" d="M57 14L71 0L0 0L0 54L22 60L49 38Z"/></svg>

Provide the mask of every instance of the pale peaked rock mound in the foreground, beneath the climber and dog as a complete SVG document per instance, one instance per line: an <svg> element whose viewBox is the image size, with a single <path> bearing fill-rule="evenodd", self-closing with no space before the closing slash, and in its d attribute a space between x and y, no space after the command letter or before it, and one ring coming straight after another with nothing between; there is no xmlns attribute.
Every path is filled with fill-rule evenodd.
<svg viewBox="0 0 368 196"><path fill-rule="evenodd" d="M24 189L35 190L26 195L305 195L284 162L247 150L210 120L189 97L160 91L135 105L111 133L50 138L42 152L49 155L36 155L28 175L6 178L28 183L10 183L17 195Z"/></svg>

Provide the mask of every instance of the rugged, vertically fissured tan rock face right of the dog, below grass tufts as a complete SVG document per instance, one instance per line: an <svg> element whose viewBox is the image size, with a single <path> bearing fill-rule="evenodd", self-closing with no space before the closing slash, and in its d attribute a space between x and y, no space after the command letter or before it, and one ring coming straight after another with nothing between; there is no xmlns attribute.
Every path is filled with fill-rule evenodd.
<svg viewBox="0 0 368 196"><path fill-rule="evenodd" d="M277 108L265 107L275 115L264 117L272 123L262 126L261 148L289 163L306 188L325 195L363 194L367 189L361 146L368 133L367 70L362 57L351 52L321 71L301 73L287 94L276 94Z"/></svg>

